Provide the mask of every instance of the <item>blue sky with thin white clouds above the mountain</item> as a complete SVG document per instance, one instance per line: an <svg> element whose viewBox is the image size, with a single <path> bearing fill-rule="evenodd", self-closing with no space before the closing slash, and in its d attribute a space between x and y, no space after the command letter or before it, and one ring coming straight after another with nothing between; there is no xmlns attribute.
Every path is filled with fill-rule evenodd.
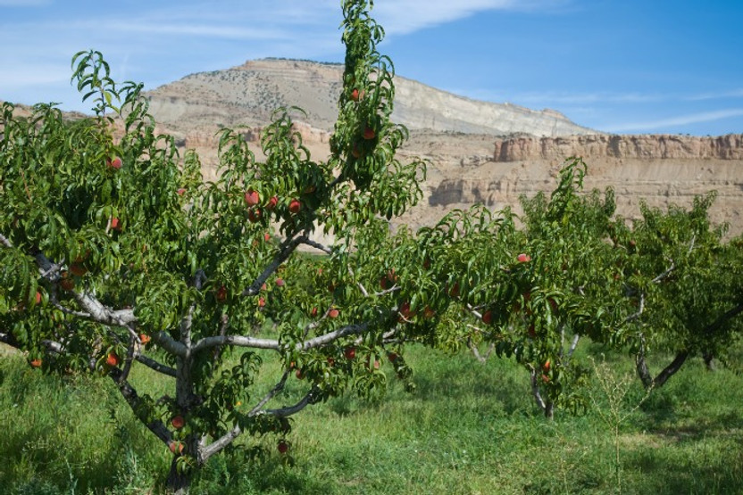
<svg viewBox="0 0 743 495"><path fill-rule="evenodd" d="M0 99L85 110L71 56L146 89L262 57L342 62L339 0L0 0ZM377 0L397 73L622 134L743 133L743 0Z"/></svg>

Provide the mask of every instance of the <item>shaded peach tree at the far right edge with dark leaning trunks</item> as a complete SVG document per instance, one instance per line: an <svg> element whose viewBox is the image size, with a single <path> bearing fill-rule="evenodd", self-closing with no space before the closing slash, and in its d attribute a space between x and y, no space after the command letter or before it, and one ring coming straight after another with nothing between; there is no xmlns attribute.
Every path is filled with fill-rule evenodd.
<svg viewBox="0 0 743 495"><path fill-rule="evenodd" d="M647 388L663 386L691 356L712 367L740 338L741 239L725 240L726 226L710 221L714 196L697 196L688 210L643 204L631 226L617 219L610 227L623 280L616 296L630 301L622 332ZM673 356L655 376L647 363L651 352Z"/></svg>

